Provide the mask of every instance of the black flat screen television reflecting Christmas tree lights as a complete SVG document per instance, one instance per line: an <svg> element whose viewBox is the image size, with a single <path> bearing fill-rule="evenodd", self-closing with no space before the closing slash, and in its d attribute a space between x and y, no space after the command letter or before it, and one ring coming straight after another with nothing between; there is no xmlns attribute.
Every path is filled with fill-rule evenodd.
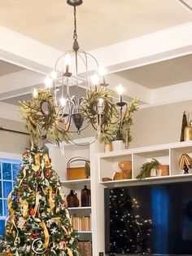
<svg viewBox="0 0 192 256"><path fill-rule="evenodd" d="M109 255L192 255L192 181L105 188Z"/></svg>

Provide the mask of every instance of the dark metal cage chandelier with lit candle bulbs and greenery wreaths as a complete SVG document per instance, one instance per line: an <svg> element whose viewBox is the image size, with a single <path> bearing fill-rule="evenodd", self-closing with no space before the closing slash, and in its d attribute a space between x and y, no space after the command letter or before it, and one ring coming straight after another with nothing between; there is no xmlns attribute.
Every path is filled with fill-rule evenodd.
<svg viewBox="0 0 192 256"><path fill-rule="evenodd" d="M122 87L119 86L120 101L116 103L112 91L107 88L103 68L93 55L81 50L77 42L76 7L82 0L68 0L67 3L73 7L74 14L72 50L59 56L54 71L46 78L46 88L34 88L33 100L20 102L20 113L33 139L69 143L73 141L72 134L79 135L89 125L96 131L95 139L101 142L116 139L122 126L122 109L126 105L122 101ZM96 67L92 80L88 62ZM70 94L71 86L76 86L77 95ZM86 90L85 97L79 93L81 87Z"/></svg>

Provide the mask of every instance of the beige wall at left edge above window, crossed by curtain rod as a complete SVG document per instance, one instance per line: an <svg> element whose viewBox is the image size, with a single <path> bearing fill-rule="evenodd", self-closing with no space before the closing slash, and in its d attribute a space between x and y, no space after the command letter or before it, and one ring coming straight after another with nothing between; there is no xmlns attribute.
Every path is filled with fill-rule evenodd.
<svg viewBox="0 0 192 256"><path fill-rule="evenodd" d="M24 130L24 123L0 118L0 126L11 130ZM25 131L26 132L26 131ZM21 154L28 147L28 135L0 130L0 152Z"/></svg>

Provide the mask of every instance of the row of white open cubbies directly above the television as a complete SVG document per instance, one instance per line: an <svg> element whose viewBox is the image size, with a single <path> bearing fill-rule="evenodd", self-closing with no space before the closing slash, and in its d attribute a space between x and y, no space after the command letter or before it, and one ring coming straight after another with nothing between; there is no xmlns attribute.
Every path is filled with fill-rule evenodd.
<svg viewBox="0 0 192 256"><path fill-rule="evenodd" d="M138 182L136 179L139 169L142 164L151 161L155 158L161 165L169 166L169 174L167 176L156 176L146 178L147 180L168 180L176 178L192 178L192 171L189 174L183 174L184 171L180 169L179 160L182 153L187 153L192 157L192 142L169 143L145 148L131 148L121 150L118 152L107 152L98 154L98 169L99 182L104 185L116 183L133 183ZM116 170L114 170L114 163L120 161L132 161L132 179L111 180L103 182L104 177L113 178ZM141 182L141 181L139 181Z"/></svg>

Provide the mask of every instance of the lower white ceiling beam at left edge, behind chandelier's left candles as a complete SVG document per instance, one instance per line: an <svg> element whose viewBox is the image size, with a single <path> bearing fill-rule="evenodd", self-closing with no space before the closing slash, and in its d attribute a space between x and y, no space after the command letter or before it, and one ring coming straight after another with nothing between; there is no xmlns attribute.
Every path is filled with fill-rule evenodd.
<svg viewBox="0 0 192 256"><path fill-rule="evenodd" d="M43 85L45 75L27 69L0 77L0 100L28 92L28 88ZM23 93L21 93L21 91Z"/></svg>

